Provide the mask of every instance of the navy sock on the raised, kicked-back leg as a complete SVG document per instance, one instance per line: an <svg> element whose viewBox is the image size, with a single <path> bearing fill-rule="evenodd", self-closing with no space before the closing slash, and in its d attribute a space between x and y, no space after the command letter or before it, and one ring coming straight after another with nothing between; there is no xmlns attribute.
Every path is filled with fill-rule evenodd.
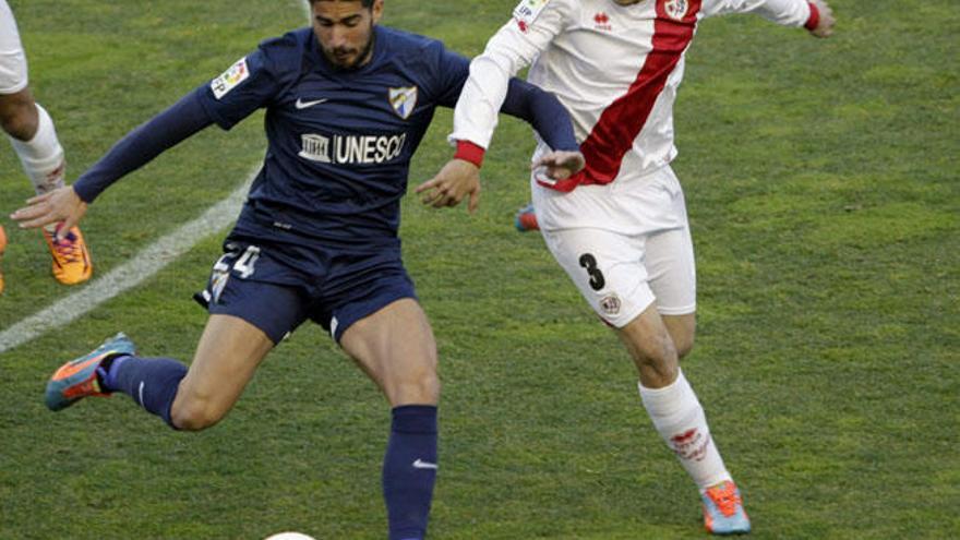
<svg viewBox="0 0 960 540"><path fill-rule="evenodd" d="M170 358L113 357L100 370L100 384L107 392L122 392L137 405L164 419L170 420L170 407L177 397L187 367Z"/></svg>

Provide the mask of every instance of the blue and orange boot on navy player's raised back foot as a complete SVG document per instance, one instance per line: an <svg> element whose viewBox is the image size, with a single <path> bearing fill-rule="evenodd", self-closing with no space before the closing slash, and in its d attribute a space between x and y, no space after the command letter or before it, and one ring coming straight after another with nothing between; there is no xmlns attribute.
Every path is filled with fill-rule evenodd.
<svg viewBox="0 0 960 540"><path fill-rule="evenodd" d="M87 396L108 396L109 394L101 392L97 380L100 362L117 355L135 353L133 341L121 332L92 352L64 363L47 383L47 394L44 397L47 408L61 410Z"/></svg>

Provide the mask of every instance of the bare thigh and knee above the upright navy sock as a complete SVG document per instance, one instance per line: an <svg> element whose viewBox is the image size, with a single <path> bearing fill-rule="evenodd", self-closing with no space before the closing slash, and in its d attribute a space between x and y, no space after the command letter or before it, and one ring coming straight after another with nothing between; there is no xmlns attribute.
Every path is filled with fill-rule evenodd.
<svg viewBox="0 0 960 540"><path fill-rule="evenodd" d="M436 405L436 341L427 314L404 298L353 323L340 346L383 391L391 406Z"/></svg>

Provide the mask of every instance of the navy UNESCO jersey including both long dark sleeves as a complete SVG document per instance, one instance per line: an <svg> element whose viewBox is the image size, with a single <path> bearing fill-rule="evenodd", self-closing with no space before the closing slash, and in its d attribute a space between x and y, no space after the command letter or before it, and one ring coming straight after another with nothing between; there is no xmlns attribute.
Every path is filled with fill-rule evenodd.
<svg viewBox="0 0 960 540"><path fill-rule="evenodd" d="M235 237L301 244L398 244L410 157L437 105L454 107L469 62L434 39L375 27L370 61L331 65L312 28L271 39L226 73L128 133L73 184L92 203L113 182L216 122L265 108L267 152ZM502 112L554 149L576 151L551 94L511 80Z"/></svg>

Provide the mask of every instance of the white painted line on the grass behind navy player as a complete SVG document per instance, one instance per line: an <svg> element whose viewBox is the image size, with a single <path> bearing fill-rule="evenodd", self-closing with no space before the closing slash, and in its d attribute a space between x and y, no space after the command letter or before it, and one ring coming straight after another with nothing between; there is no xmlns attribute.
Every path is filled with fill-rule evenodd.
<svg viewBox="0 0 960 540"><path fill-rule="evenodd" d="M200 240L226 228L237 218L250 183L259 170L260 168L251 173L243 185L230 193L230 196L207 208L199 218L148 245L130 262L113 268L107 275L95 279L49 308L0 332L0 353L51 329L70 324L97 305L153 276L190 251Z"/></svg>

